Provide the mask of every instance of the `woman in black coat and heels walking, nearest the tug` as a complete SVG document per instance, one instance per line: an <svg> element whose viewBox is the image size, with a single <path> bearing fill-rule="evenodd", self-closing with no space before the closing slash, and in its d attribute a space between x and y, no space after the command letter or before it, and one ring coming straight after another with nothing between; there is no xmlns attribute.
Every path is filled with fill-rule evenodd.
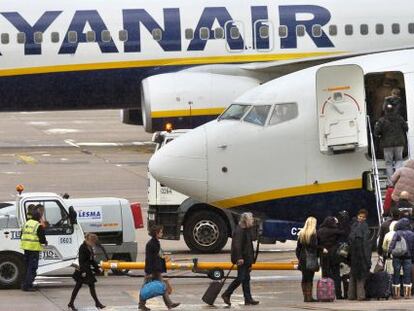
<svg viewBox="0 0 414 311"><path fill-rule="evenodd" d="M87 233L85 235L85 241L79 247L79 269L73 274L73 278L76 281L75 288L72 291L72 296L68 304L69 310L76 311L74 303L76 296L78 295L79 290L83 284L88 284L89 291L93 300L95 301L95 306L98 309L103 309L105 306L99 301L98 296L96 295L95 283L96 278L95 274L101 272L101 269L98 266L98 263L95 261L95 254L93 248L98 242L98 237L96 234Z"/></svg>

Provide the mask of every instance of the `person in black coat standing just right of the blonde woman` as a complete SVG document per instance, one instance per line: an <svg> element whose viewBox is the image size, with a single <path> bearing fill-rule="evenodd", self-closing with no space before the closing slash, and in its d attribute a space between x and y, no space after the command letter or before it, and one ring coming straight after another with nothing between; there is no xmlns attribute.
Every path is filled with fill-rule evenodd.
<svg viewBox="0 0 414 311"><path fill-rule="evenodd" d="M322 277L334 280L336 299L343 299L340 258L337 255L339 240L343 233L338 227L338 220L332 216L326 217L317 231L319 246L328 250L326 254L321 254Z"/></svg>

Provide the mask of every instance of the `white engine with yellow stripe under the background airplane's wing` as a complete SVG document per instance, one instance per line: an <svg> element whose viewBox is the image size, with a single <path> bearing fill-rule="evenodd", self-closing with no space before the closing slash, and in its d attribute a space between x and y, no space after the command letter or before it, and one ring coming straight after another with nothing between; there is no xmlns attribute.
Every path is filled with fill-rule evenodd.
<svg viewBox="0 0 414 311"><path fill-rule="evenodd" d="M147 132L194 128L215 119L259 80L206 72L176 72L142 81L141 110Z"/></svg>

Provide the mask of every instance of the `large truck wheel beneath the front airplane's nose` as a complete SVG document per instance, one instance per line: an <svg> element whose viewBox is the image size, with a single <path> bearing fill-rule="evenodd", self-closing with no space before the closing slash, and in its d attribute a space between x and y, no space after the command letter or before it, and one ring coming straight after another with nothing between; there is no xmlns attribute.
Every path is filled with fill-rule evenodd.
<svg viewBox="0 0 414 311"><path fill-rule="evenodd" d="M184 240L193 252L217 253L227 243L227 224L218 213L195 212L184 223Z"/></svg>

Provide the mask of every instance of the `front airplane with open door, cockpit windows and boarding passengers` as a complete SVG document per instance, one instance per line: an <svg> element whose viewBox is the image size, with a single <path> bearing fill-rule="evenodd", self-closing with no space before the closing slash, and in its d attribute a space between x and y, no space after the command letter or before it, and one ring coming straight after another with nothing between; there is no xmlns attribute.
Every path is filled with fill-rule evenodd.
<svg viewBox="0 0 414 311"><path fill-rule="evenodd" d="M253 212L265 237L292 240L308 216L319 223L365 208L382 221L381 147L373 126L384 96L402 92L414 150L414 50L325 63L247 91L216 120L157 151L150 173L196 200ZM387 95L386 95L387 96Z"/></svg>

